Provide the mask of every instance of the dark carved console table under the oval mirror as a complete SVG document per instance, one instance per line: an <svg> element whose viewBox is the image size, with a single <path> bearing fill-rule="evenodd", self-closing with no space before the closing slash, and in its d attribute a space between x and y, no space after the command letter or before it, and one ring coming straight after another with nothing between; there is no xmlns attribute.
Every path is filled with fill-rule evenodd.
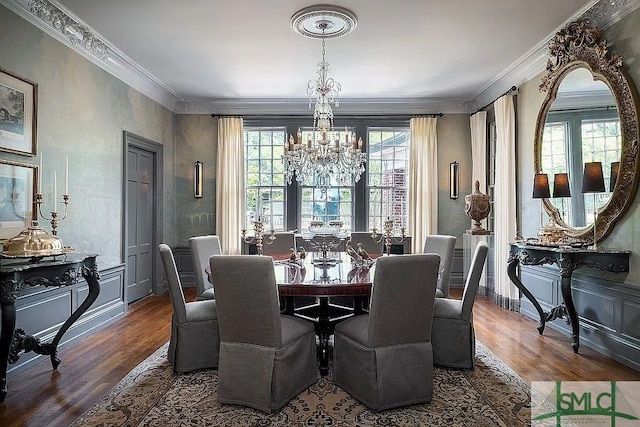
<svg viewBox="0 0 640 427"><path fill-rule="evenodd" d="M580 348L580 324L573 296L571 295L571 275L581 267L597 268L613 273L625 273L629 271L630 251L586 248L563 248L549 246L535 246L522 243L511 243L509 259L507 260L507 274L513 284L531 301L540 315L538 332L544 332L546 322L567 316L567 322L571 325L571 347L575 353ZM538 303L538 300L529 292L520 281L517 274L518 265L544 265L555 264L560 269L560 290L563 304L546 312Z"/></svg>

